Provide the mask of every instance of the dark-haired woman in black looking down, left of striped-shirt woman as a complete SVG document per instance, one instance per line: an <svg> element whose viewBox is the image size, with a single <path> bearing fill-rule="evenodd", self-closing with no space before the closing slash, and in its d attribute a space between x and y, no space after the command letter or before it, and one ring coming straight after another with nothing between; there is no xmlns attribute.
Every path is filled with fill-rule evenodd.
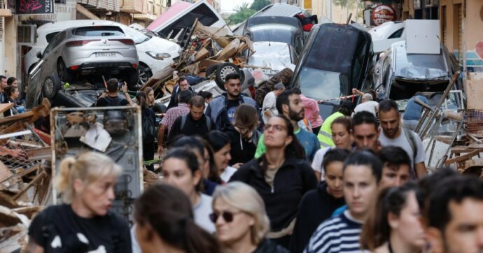
<svg viewBox="0 0 483 253"><path fill-rule="evenodd" d="M332 212L345 204L342 189L342 167L349 150L332 149L323 157L325 181L304 195L300 201L297 222L290 241L290 252L302 253L312 233Z"/></svg>

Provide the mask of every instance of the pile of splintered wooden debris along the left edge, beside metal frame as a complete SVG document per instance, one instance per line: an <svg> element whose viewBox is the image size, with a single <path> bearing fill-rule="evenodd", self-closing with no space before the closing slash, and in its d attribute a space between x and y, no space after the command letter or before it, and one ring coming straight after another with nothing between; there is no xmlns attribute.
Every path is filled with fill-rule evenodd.
<svg viewBox="0 0 483 253"><path fill-rule="evenodd" d="M1 104L0 113L13 108ZM32 217L50 195L50 136L32 127L48 117L50 102L27 113L0 118L0 251L13 252L27 243Z"/></svg>

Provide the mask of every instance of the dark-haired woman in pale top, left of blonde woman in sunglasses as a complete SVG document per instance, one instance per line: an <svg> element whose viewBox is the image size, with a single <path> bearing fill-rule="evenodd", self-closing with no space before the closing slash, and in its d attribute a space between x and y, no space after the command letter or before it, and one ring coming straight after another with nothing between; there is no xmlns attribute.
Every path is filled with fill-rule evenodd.
<svg viewBox="0 0 483 253"><path fill-rule="evenodd" d="M202 170L192 150L174 147L166 154L162 162L163 181L181 189L193 205L195 222L209 233L214 233L215 226L209 220L211 197L201 192Z"/></svg>

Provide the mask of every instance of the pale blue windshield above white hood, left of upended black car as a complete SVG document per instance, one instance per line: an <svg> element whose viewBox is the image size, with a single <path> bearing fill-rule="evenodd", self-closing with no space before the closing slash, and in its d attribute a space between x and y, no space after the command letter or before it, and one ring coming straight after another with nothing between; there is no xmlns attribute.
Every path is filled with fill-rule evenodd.
<svg viewBox="0 0 483 253"><path fill-rule="evenodd" d="M277 41L292 44L293 27L284 25L260 25L251 27L251 40L256 41Z"/></svg>

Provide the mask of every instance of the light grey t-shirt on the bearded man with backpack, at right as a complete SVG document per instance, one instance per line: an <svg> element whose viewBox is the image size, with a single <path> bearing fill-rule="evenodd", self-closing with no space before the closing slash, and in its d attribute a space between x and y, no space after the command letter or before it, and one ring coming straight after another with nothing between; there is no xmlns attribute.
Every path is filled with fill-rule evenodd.
<svg viewBox="0 0 483 253"><path fill-rule="evenodd" d="M407 155L409 156L409 159L411 159L411 178L415 179L415 172L414 172L414 166L413 164L419 164L421 162L426 161L426 154L424 152L424 147L423 147L423 142L421 142L421 138L419 138L419 135L417 133L414 133L414 131L411 131L412 135L414 136L414 141L416 142L416 147L418 149L418 153L416 154L416 161L414 160L414 151L411 148L411 144L409 144L409 141L406 138L406 135L404 133L404 130L401 129L401 133L398 136L398 138L390 139L387 138L386 135L384 134L384 131L381 131L379 134L379 143L381 143L381 147L386 147L386 146L395 146L395 147L401 147L403 150L406 151ZM414 175L413 175L414 173Z"/></svg>

